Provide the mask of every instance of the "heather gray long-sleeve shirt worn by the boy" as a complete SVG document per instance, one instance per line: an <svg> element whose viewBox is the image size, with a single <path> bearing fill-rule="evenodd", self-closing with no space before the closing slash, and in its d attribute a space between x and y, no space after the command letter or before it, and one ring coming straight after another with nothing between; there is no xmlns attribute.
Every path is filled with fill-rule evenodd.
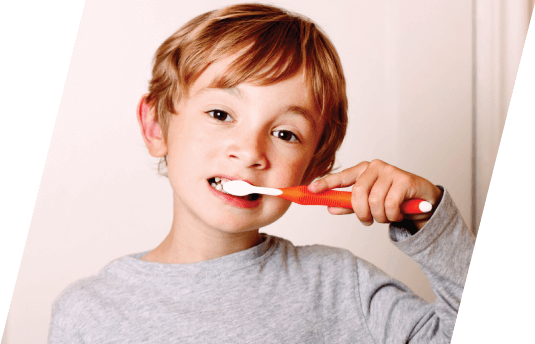
<svg viewBox="0 0 535 344"><path fill-rule="evenodd" d="M351 252L262 234L192 264L119 258L54 301L49 343L448 343L475 240L447 191L414 235L390 225L436 295L427 303Z"/></svg>

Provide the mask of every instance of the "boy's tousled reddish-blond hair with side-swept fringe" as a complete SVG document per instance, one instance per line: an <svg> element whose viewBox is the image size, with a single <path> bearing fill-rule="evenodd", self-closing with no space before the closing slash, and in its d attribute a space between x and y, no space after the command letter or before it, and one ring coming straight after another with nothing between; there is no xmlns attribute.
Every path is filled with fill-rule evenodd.
<svg viewBox="0 0 535 344"><path fill-rule="evenodd" d="M325 126L303 180L331 172L347 127L340 59L312 21L273 6L240 4L199 15L158 48L146 102L156 111L164 142L175 104L188 96L210 64L231 55L237 58L215 82L217 87L242 82L270 85L304 68ZM160 161L160 173L162 165L167 166L166 157Z"/></svg>

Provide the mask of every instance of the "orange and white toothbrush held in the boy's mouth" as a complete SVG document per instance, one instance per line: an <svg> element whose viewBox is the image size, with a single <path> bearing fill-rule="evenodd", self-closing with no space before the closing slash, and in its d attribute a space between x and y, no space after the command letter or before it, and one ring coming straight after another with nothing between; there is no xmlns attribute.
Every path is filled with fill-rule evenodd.
<svg viewBox="0 0 535 344"><path fill-rule="evenodd" d="M231 180L223 184L223 190L234 196L245 196L252 193L278 196L302 205L326 205L328 207L353 208L351 192L328 190L321 193L308 191L306 185L288 188L266 188L253 186L243 180ZM433 206L423 199L413 198L401 204L401 212L406 215L430 212Z"/></svg>

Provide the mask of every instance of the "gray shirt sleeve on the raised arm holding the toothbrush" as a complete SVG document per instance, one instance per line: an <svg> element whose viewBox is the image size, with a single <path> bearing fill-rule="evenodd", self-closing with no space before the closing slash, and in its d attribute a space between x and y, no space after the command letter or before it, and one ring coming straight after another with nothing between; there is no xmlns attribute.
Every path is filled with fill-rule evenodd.
<svg viewBox="0 0 535 344"><path fill-rule="evenodd" d="M363 315L376 343L449 343L461 304L475 238L448 192L415 234L390 224L392 243L425 273L436 299L428 303L366 261L357 261Z"/></svg>

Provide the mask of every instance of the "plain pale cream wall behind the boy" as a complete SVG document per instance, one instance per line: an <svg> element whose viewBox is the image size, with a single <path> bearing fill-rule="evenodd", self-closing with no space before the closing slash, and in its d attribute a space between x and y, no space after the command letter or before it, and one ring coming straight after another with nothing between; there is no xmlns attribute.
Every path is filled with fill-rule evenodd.
<svg viewBox="0 0 535 344"><path fill-rule="evenodd" d="M98 273L115 258L154 248L167 235L171 188L157 174L158 160L150 157L141 139L136 105L147 91L158 46L194 16L238 2L246 1L86 2L2 343L46 342L51 304L63 289ZM495 1L263 3L311 18L341 56L349 128L338 155L338 171L381 159L421 175L447 188L466 223L477 232L529 23L530 1L518 1L524 7L517 6L512 14ZM492 34L476 36L474 28L501 27L505 12L512 16L509 21L520 23L510 33L517 43L508 50L513 52L505 62L508 69L502 56L476 74L480 61L476 38L494 53L510 40L506 37L496 45ZM501 86L476 95L474 87L487 84L485 73L495 69L506 71L494 80ZM501 97L501 105L477 112L476 105L484 108L488 104L484 97L492 92ZM494 116L493 121L483 120L494 124L481 131L483 126L476 126L478 116ZM474 150L481 138L490 140L480 148L478 159L485 155L483 163L475 160ZM389 242L387 228L364 227L354 215L333 216L323 207L292 205L261 232L295 245L347 248L433 301L427 279Z"/></svg>

